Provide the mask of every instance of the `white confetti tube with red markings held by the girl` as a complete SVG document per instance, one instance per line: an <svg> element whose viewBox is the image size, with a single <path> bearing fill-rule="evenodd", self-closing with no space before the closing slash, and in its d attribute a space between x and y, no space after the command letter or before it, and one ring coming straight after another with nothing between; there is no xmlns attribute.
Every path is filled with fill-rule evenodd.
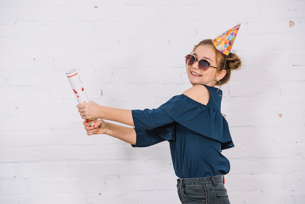
<svg viewBox="0 0 305 204"><path fill-rule="evenodd" d="M71 69L67 71L66 75L73 89L77 102L78 103L90 102L76 69ZM92 126L95 124L96 120L93 121L87 120L87 122L89 122L90 125Z"/></svg>

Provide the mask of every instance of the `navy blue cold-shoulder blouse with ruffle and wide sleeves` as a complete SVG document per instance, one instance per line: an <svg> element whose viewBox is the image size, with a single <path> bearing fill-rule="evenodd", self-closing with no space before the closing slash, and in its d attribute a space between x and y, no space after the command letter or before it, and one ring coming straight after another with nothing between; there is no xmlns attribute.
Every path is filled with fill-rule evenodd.
<svg viewBox="0 0 305 204"><path fill-rule="evenodd" d="M175 174L201 178L227 174L229 160L221 154L233 147L229 126L220 112L222 91L205 85L207 105L186 95L172 97L156 109L132 110L135 147L169 141Z"/></svg>

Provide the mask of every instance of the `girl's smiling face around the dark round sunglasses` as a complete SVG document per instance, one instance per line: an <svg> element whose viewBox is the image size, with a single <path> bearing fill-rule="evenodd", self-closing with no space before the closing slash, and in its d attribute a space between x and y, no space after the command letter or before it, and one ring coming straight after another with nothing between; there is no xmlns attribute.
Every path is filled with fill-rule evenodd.
<svg viewBox="0 0 305 204"><path fill-rule="evenodd" d="M206 60L210 62L210 66L217 67L215 50L210 45L199 45L192 55L195 56L198 61ZM187 66L188 77L191 84L193 86L197 84L215 86L217 69L209 67L207 70L200 70L198 68L198 61L195 61L191 66Z"/></svg>

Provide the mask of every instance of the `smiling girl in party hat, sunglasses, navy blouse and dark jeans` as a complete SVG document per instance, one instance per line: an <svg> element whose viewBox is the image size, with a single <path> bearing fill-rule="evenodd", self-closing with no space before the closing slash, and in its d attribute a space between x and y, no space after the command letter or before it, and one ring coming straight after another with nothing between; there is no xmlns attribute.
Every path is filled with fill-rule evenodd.
<svg viewBox="0 0 305 204"><path fill-rule="evenodd" d="M192 87L156 109L126 110L98 105L77 105L88 135L107 134L136 147L169 141L177 190L182 204L229 204L223 175L229 161L221 154L233 147L229 126L220 107L221 86L231 70L241 67L239 57L230 53L240 24L213 40L199 42L185 57Z"/></svg>

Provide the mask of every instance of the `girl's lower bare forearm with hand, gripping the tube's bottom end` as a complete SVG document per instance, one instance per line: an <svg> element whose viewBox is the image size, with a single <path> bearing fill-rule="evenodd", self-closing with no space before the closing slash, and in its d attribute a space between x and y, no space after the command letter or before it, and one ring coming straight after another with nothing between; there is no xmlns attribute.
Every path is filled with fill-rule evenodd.
<svg viewBox="0 0 305 204"><path fill-rule="evenodd" d="M93 126L90 126L87 121L84 121L83 124L87 135L106 134L126 143L133 145L136 143L136 133L132 127L124 127L103 120L98 120Z"/></svg>

